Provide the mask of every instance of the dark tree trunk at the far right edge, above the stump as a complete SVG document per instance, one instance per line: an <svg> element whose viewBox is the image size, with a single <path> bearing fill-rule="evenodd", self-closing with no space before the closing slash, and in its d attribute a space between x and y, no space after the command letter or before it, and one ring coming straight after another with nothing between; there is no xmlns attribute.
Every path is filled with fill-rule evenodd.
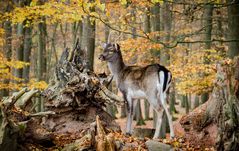
<svg viewBox="0 0 239 151"><path fill-rule="evenodd" d="M227 0L229 40L239 40L239 0ZM230 42L228 56L233 58L239 54L239 42Z"/></svg>

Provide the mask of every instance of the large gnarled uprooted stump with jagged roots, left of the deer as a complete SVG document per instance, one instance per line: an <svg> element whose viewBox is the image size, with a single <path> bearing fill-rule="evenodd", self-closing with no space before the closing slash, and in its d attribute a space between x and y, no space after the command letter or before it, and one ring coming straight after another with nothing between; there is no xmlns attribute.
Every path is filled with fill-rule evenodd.
<svg viewBox="0 0 239 151"><path fill-rule="evenodd" d="M37 90L25 88L1 102L1 150L64 150L64 146L69 150L66 144L71 144L72 150L97 148L101 137L106 136L98 134L96 125L104 127L105 133L120 131L104 106L122 100L104 86L107 78L87 70L82 55L78 43L71 53L69 49L62 53L49 87L41 93L46 112L31 113L31 98L39 93ZM107 138L109 147L114 148L114 140Z"/></svg>

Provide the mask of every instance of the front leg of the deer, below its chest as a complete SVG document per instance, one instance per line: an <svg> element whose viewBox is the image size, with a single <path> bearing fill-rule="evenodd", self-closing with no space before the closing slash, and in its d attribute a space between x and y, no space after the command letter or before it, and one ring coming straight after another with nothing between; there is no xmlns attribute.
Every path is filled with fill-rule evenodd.
<svg viewBox="0 0 239 151"><path fill-rule="evenodd" d="M132 134L132 121L133 121L133 114L134 114L134 105L133 105L133 99L130 96L125 96L125 99L127 101L127 123L126 123L126 134L131 135Z"/></svg>

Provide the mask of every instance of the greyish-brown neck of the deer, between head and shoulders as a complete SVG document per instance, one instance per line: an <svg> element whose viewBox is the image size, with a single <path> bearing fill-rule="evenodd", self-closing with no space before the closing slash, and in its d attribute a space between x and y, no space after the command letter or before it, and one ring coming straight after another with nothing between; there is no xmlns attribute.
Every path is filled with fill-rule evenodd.
<svg viewBox="0 0 239 151"><path fill-rule="evenodd" d="M122 55L119 54L119 56L117 58L115 58L114 61L108 62L108 66L117 82L121 71L125 68L125 64L124 64Z"/></svg>

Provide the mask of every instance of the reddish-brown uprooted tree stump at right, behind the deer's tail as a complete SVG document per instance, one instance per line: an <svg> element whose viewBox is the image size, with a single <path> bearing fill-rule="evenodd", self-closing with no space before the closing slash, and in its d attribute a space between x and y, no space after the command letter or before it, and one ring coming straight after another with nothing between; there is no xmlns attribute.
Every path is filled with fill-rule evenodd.
<svg viewBox="0 0 239 151"><path fill-rule="evenodd" d="M236 66L232 65L224 62L217 66L209 100L180 120L186 137L195 145L213 145L227 151L239 149L239 60Z"/></svg>

